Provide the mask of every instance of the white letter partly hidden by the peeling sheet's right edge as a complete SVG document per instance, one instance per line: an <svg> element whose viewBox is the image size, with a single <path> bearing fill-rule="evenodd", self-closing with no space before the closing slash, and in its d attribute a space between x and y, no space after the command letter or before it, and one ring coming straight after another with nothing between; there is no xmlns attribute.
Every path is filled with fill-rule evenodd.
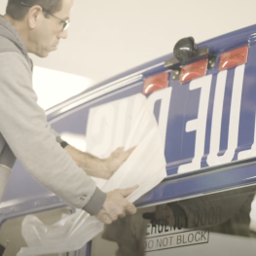
<svg viewBox="0 0 256 256"><path fill-rule="evenodd" d="M168 121L169 102L171 97L172 88L166 88L164 90L156 91L148 97L149 109L154 112L155 104L161 99L161 109L159 115L159 130L163 142L163 148L165 149L166 128Z"/></svg>

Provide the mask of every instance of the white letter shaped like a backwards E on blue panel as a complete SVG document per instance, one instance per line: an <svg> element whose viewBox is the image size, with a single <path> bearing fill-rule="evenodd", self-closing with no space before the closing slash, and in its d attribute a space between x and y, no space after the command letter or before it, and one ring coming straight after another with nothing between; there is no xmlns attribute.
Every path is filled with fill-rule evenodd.
<svg viewBox="0 0 256 256"><path fill-rule="evenodd" d="M178 173L187 172L201 168L201 157L204 154L204 141L207 122L208 102L210 94L212 76L206 76L201 79L192 81L190 84L190 90L196 90L201 88L201 99L199 106L198 119L191 120L186 124L186 131L190 132L197 130L196 133L196 145L195 145L195 157L192 163L187 165L180 165Z"/></svg>

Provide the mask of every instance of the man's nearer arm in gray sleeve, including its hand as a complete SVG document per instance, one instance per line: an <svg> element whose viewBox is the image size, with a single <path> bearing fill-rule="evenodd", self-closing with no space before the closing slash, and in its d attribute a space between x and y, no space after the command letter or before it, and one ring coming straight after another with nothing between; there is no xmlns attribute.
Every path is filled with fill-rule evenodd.
<svg viewBox="0 0 256 256"><path fill-rule="evenodd" d="M101 192L91 177L56 143L45 112L36 103L25 58L16 53L4 53L0 54L0 63L0 132L25 169L55 195L97 215L101 221L106 214L113 221L130 207L128 212L132 213L135 207L123 196L122 190ZM112 194L115 197L109 196Z"/></svg>

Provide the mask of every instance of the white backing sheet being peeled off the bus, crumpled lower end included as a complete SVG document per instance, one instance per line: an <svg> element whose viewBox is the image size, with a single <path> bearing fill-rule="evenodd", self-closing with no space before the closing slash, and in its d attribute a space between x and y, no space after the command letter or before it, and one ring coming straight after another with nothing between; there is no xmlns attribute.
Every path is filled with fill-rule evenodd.
<svg viewBox="0 0 256 256"><path fill-rule="evenodd" d="M91 108L89 116L87 151L94 156L106 158L118 147L128 150L135 146L127 162L109 180L94 179L104 192L139 185L128 196L132 202L166 177L163 139L148 102L138 93ZM76 251L103 228L95 217L81 210L51 226L27 215L22 222L22 236L28 247L21 248L18 256Z"/></svg>

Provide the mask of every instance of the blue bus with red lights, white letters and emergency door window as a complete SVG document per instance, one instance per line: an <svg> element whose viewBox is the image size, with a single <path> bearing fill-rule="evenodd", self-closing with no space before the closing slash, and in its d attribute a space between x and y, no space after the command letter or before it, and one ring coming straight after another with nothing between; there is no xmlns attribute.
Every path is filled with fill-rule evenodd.
<svg viewBox="0 0 256 256"><path fill-rule="evenodd" d="M172 54L47 111L57 132L85 136L90 152L104 155L137 114L128 100L143 95L158 122L167 173L135 201L136 214L106 226L81 250L52 256L255 255L255 31L252 25L201 44L183 38ZM0 205L2 248L10 241L5 256L27 246L27 214L50 225L74 211L17 162Z"/></svg>

